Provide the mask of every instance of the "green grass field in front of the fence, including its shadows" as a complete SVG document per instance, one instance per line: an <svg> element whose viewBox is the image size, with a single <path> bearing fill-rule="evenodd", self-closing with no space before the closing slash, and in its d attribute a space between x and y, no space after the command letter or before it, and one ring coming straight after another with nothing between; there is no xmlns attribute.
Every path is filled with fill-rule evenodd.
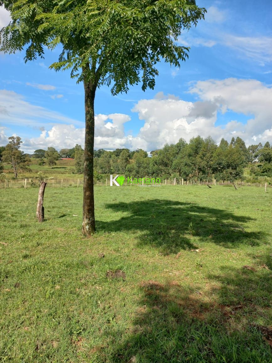
<svg viewBox="0 0 272 363"><path fill-rule="evenodd" d="M90 239L37 194L0 190L1 361L272 362L272 188L96 186Z"/></svg>

